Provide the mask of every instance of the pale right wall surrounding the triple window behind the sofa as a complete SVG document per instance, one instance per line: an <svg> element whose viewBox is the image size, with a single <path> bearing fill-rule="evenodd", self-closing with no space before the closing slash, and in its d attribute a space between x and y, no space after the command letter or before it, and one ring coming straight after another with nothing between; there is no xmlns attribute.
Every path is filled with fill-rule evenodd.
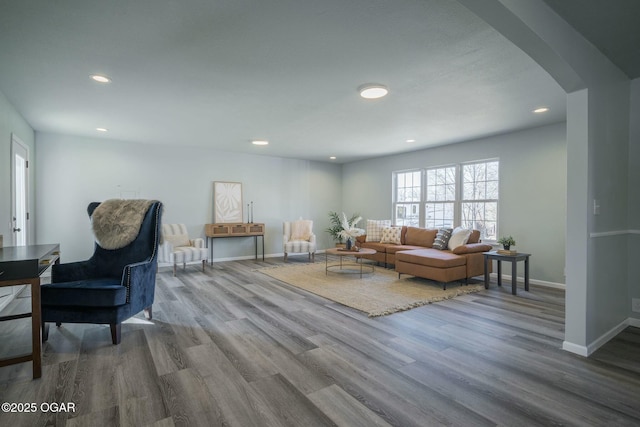
<svg viewBox="0 0 640 427"><path fill-rule="evenodd" d="M499 158L498 234L513 235L517 249L532 254L532 279L564 283L566 154L566 126L556 124L355 162L343 169L343 206L390 219L394 171Z"/></svg>

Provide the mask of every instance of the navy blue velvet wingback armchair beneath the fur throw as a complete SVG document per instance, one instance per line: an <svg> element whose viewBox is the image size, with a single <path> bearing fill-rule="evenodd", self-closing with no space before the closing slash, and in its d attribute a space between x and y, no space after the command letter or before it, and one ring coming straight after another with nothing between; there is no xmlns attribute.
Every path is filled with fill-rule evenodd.
<svg viewBox="0 0 640 427"><path fill-rule="evenodd" d="M108 202L127 203L124 200L104 203ZM147 318L151 318L162 203L140 202L147 202L143 206L149 207L146 213L144 210L140 212L139 232L137 236L133 233L133 240L126 246L105 249L103 246L108 245L101 246L97 240L89 260L52 267L51 283L41 287L43 341L48 339L47 322L55 322L57 326L62 323L96 323L110 325L113 344L120 344L124 320L143 310ZM92 224L99 205L94 202L87 208ZM112 234L122 230L118 224L121 212L122 208L109 212L106 228L110 228Z"/></svg>

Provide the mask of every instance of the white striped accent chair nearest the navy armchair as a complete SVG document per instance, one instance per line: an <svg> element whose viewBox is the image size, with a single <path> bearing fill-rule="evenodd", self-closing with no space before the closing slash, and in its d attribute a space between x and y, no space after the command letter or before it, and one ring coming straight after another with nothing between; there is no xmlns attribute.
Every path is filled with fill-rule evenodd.
<svg viewBox="0 0 640 427"><path fill-rule="evenodd" d="M207 263L207 248L204 239L198 237L189 239L187 226L184 224L162 224L163 242L158 248L158 262L173 264L173 275L176 275L176 267L187 263L202 262L202 271Z"/></svg>

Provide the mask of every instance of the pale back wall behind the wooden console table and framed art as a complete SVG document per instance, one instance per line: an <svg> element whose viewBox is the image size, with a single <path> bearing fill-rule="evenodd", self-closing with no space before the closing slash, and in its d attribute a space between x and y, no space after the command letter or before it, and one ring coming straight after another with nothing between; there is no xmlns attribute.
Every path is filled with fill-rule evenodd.
<svg viewBox="0 0 640 427"><path fill-rule="evenodd" d="M204 237L213 222L213 181L243 185L254 222L266 224L265 252L282 253L282 221L314 220L319 247L332 242L323 230L327 212L342 200L340 166L215 151L125 143L38 133L36 224L39 243L60 242L63 262L93 253L86 214L92 201L139 197L164 203L163 221L185 223ZM246 218L246 213L245 213ZM214 259L253 255L253 239L218 239Z"/></svg>

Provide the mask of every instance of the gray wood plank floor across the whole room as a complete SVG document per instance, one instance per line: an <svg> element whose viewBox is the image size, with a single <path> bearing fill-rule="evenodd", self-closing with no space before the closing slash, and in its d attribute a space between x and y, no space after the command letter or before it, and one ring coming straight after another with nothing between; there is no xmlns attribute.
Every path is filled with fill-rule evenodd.
<svg viewBox="0 0 640 427"><path fill-rule="evenodd" d="M123 324L119 346L106 326L52 325L41 379L0 368L0 403L38 410L0 425L640 425L640 330L588 359L562 351L560 290L493 285L368 318L256 271L281 263L161 268L153 320ZM0 357L29 350L28 328L0 324Z"/></svg>

